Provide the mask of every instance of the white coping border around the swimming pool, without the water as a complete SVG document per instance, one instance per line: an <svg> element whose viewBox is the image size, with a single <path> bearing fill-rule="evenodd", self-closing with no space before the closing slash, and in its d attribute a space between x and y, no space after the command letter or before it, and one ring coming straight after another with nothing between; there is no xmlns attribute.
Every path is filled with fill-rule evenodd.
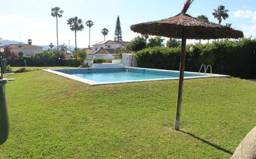
<svg viewBox="0 0 256 159"><path fill-rule="evenodd" d="M139 68L139 67L126 67L126 68L134 68L134 69L145 69L145 70L153 70L153 71L168 71L168 72L180 72L180 71L170 71L165 69L147 69L147 68ZM69 69L78 69L78 68L69 68ZM89 69L99 69L99 68L89 68ZM58 70L58 69L55 69ZM178 80L179 77L174 78L165 78L165 79L146 79L146 80L124 80L124 81L114 81L114 82L96 82L94 80L83 79L81 77L76 77L75 75L69 75L58 71L53 71L52 69L43 69L43 71L50 72L53 74L61 75L68 79L77 80L78 82L82 82L89 85L108 85L108 84L123 84L123 83L132 83L132 82L150 82L150 81L157 81L157 80ZM198 74L198 72L188 72L185 73L193 73ZM229 78L230 75L222 75L222 74L204 74L200 73L202 76L191 76L191 77L184 77L184 79L204 79L204 78L211 78L211 77L219 77L219 78Z"/></svg>

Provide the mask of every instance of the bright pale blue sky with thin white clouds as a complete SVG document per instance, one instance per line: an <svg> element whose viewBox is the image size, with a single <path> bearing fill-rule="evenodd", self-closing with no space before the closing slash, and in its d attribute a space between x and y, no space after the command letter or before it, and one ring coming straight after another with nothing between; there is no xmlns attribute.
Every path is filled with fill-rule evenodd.
<svg viewBox="0 0 256 159"><path fill-rule="evenodd" d="M102 28L109 30L106 40L114 39L117 15L120 17L122 37L130 41L139 34L130 30L130 25L152 20L160 20L178 14L184 1L177 0L5 0L0 9L0 37L4 40L27 42L33 45L57 45L56 19L51 16L51 8L62 9L63 17L58 19L59 45L75 45L75 33L71 32L66 20L78 16L85 28L77 34L77 45L85 48L89 45L89 28L86 20L93 20L91 27L91 45L104 40ZM213 18L213 9L224 5L229 10L229 18L222 24L231 23L232 28L242 30L245 37L256 37L256 1L255 0L195 0L188 14L196 17L206 15Z"/></svg>

